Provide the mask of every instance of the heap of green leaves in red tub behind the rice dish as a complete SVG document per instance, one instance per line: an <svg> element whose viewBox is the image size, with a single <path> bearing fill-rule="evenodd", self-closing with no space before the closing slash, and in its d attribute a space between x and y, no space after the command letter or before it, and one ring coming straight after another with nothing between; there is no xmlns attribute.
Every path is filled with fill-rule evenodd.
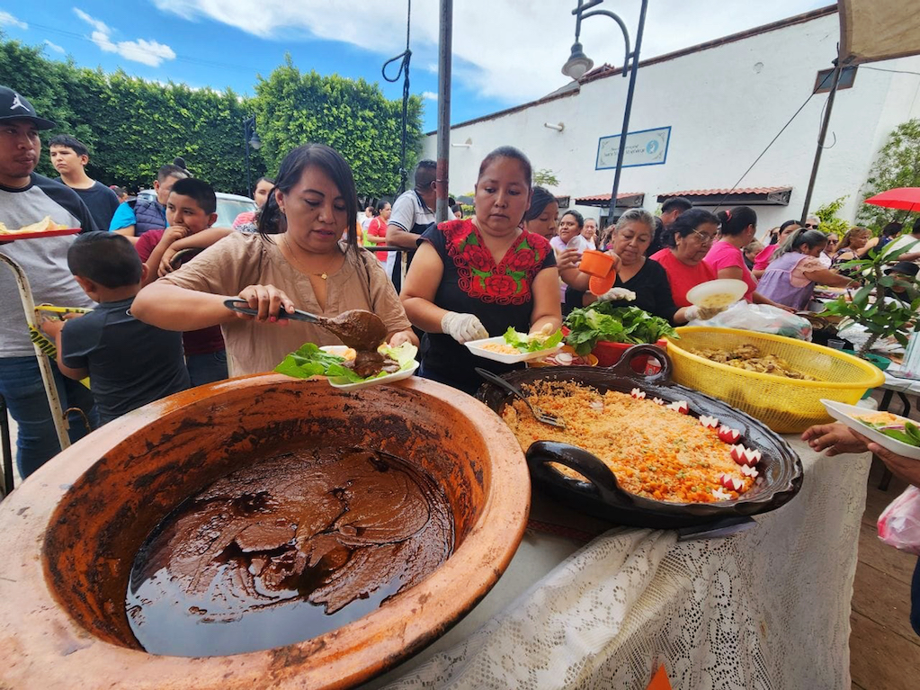
<svg viewBox="0 0 920 690"><path fill-rule="evenodd" d="M660 316L651 316L636 306L612 306L609 302L573 309L565 325L569 328L566 344L580 355L592 351L599 340L636 345L655 343L666 336L679 338Z"/></svg>

